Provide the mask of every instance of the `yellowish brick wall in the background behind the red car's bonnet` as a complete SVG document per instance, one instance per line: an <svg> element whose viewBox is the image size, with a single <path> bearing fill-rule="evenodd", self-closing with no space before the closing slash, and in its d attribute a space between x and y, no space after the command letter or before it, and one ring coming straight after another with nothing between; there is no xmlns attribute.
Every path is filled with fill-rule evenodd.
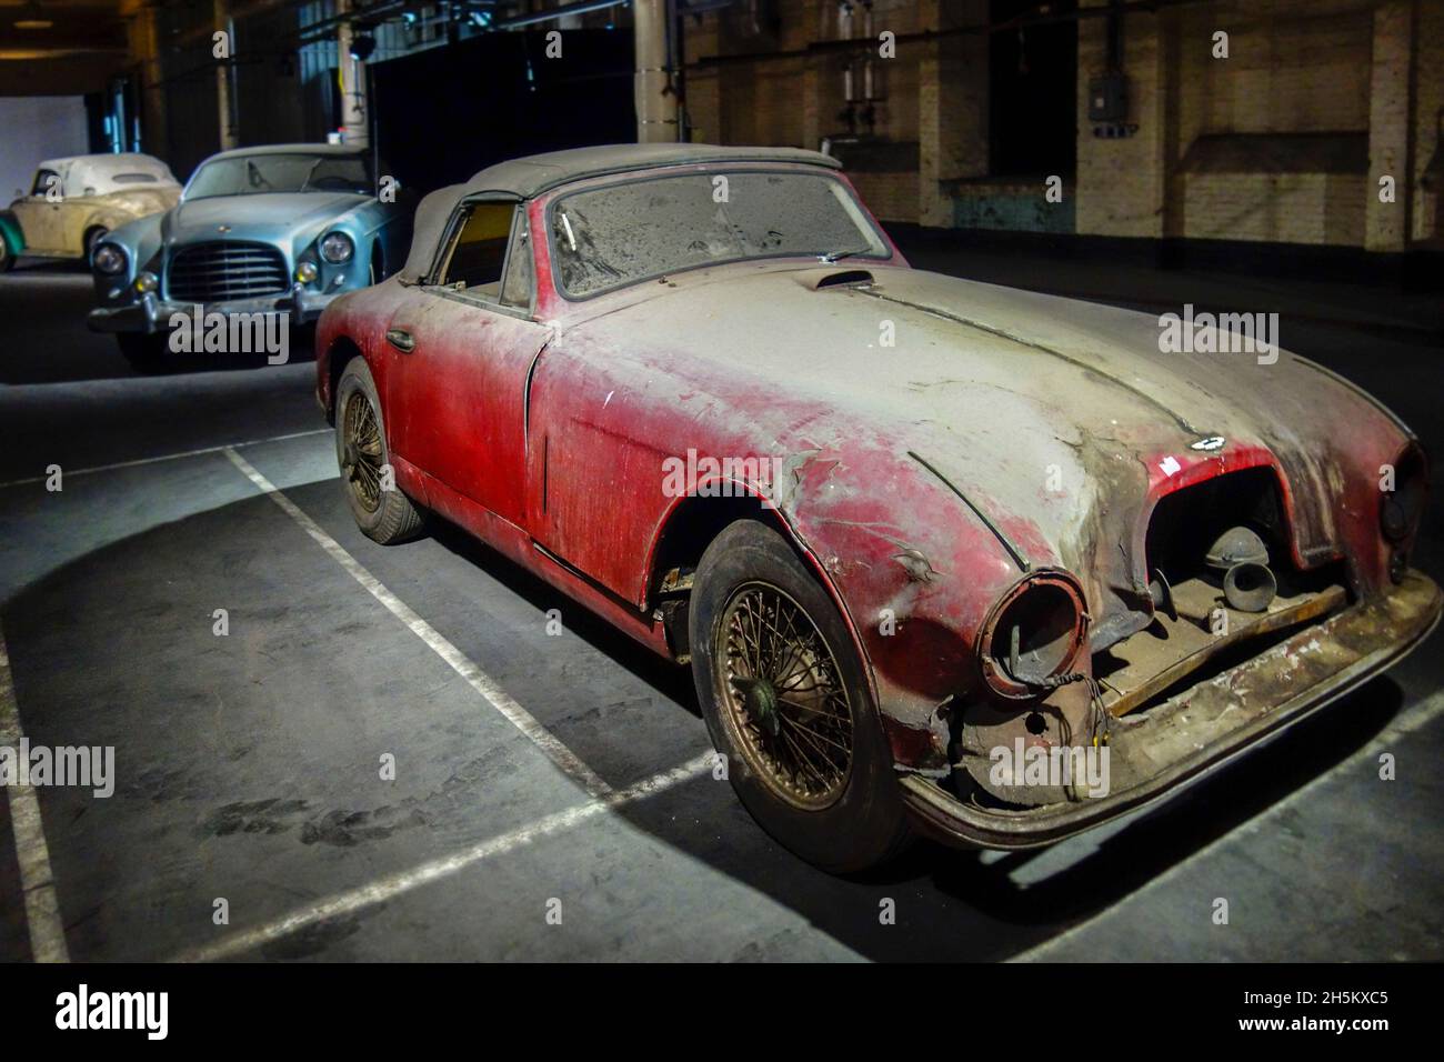
<svg viewBox="0 0 1444 1062"><path fill-rule="evenodd" d="M1108 0L1080 0L1102 7ZM816 46L836 38L833 0L778 3L770 43L738 30L742 6L689 25L687 55L796 52L745 64L695 65L689 108L703 139L803 144L845 131L842 64ZM874 35L898 36L986 19L986 0L878 0ZM1229 35L1214 58L1213 33ZM861 25L856 30L861 33ZM1108 20L1079 22L1076 231L1110 237L1188 237L1343 244L1402 250L1438 237L1444 188L1421 179L1444 114L1444 3L1440 0L1217 0L1125 17L1129 136L1099 137L1087 118L1089 81L1106 68ZM881 62L887 100L879 136L920 144L920 172L861 173L856 184L890 220L965 224L949 182L988 173L986 38L900 42ZM1184 165L1200 137L1365 136L1357 166L1308 169L1274 159L1233 172ZM1378 176L1398 179L1399 202L1378 202ZM1441 181L1444 184L1444 181Z"/></svg>

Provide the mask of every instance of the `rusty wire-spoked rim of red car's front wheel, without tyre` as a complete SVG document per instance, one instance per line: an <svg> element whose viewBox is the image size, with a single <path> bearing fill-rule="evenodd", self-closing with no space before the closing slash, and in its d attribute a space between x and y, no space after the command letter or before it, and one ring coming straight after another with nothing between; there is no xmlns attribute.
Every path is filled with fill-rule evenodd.
<svg viewBox="0 0 1444 1062"><path fill-rule="evenodd" d="M803 811L836 803L852 772L852 702L807 611L770 584L738 587L715 659L723 717L768 790Z"/></svg>

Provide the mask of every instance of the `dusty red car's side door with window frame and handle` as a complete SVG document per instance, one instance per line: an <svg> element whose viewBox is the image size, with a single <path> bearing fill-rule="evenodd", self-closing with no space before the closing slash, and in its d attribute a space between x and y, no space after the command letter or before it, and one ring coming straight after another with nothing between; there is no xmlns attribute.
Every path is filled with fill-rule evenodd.
<svg viewBox="0 0 1444 1062"><path fill-rule="evenodd" d="M526 204L464 202L430 277L386 331L393 449L446 487L524 523L526 389L550 331L531 319Z"/></svg>

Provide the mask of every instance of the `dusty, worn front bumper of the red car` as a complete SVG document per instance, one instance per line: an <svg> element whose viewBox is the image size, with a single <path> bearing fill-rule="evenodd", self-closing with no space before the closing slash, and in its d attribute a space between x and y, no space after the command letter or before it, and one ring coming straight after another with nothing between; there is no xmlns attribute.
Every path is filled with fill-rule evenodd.
<svg viewBox="0 0 1444 1062"><path fill-rule="evenodd" d="M1444 605L1409 571L1378 600L1304 627L1272 649L1168 701L1113 720L1110 786L1100 798L1005 811L963 803L937 782L901 779L902 800L930 837L967 848L1037 848L1171 799L1230 760L1385 670L1428 637Z"/></svg>

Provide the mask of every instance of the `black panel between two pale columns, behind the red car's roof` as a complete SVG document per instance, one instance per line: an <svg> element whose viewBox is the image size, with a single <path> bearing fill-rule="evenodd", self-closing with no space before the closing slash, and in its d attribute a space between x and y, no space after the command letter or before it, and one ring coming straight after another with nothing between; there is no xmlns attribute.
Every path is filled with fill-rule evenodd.
<svg viewBox="0 0 1444 1062"><path fill-rule="evenodd" d="M403 188L427 192L494 162L637 139L632 35L488 33L373 64L377 147Z"/></svg>

